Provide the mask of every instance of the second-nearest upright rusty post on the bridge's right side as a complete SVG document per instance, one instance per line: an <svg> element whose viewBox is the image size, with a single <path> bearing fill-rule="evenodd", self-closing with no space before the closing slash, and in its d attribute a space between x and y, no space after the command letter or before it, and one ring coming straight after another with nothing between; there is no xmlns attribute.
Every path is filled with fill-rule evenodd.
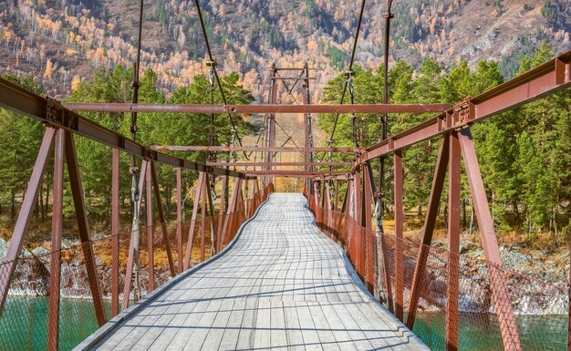
<svg viewBox="0 0 571 351"><path fill-rule="evenodd" d="M395 203L395 315L404 320L404 255L402 253L404 216L402 207L402 150L395 151L394 160L394 203Z"/></svg>

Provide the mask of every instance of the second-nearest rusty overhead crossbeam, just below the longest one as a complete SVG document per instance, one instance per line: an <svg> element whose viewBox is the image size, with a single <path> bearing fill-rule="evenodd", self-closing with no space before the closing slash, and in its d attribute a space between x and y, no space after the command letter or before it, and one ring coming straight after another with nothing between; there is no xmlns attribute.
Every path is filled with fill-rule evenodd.
<svg viewBox="0 0 571 351"><path fill-rule="evenodd" d="M158 151L202 151L202 152L354 152L359 153L360 148L285 148L285 147L258 147L258 146L151 146L151 150Z"/></svg>

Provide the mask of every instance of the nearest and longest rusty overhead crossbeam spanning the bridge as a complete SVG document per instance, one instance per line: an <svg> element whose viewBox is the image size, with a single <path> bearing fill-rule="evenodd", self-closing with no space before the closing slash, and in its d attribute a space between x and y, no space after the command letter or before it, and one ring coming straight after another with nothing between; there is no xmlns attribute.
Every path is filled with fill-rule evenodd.
<svg viewBox="0 0 571 351"><path fill-rule="evenodd" d="M306 77L300 77L300 79ZM438 113L452 108L449 104L356 104L356 105L198 105L132 104L109 102L68 102L72 111L91 112L162 112L162 113Z"/></svg>

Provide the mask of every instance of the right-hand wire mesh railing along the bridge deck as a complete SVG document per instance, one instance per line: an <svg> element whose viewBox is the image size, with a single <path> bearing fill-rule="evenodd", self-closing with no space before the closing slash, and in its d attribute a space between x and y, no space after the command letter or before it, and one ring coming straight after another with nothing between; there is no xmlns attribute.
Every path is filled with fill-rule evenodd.
<svg viewBox="0 0 571 351"><path fill-rule="evenodd" d="M498 310L493 303L492 285L507 277L509 296L504 301L514 311L517 336L524 350L565 350L567 346L568 285L507 270L484 259L454 255L435 246L413 243L394 235L362 227L348 212L322 207L315 196L305 191L309 207L316 215L317 226L339 243L359 277L369 285L379 301L391 312L402 308L403 322L432 350L446 350L448 294L458 294L459 349L503 350ZM397 246L399 250L397 250ZM397 260L396 257L400 259ZM415 267L420 254L426 254L422 279L415 281ZM397 264L403 269L397 275ZM460 284L447 282L449 270L459 273ZM403 286L403 296L394 292ZM413 286L418 285L418 299L411 304ZM452 290L451 290L452 288ZM416 305L416 306L415 306ZM500 308L504 308L500 305ZM414 310L411 311L410 309ZM412 318L412 321L410 320Z"/></svg>

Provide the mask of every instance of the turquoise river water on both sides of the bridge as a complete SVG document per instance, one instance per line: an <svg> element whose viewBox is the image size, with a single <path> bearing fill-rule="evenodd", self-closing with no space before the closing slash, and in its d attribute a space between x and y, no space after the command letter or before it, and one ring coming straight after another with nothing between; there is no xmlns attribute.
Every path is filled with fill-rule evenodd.
<svg viewBox="0 0 571 351"><path fill-rule="evenodd" d="M109 301L104 303L109 317ZM46 350L47 305L47 297L10 296L0 316L0 350ZM445 350L445 321L444 313L421 314L414 325L414 334L432 350ZM77 346L98 328L91 300L62 299L59 325L59 349ZM565 315L518 316L517 325L524 350L566 350ZM497 318L461 314L460 349L502 350Z"/></svg>

